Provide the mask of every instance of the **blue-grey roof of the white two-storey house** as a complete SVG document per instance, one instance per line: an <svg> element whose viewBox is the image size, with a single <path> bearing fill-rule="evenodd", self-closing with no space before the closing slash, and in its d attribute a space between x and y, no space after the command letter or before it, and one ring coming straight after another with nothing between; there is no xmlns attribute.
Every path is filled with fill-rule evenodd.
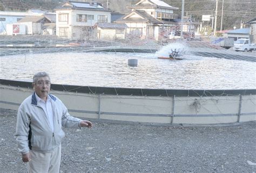
<svg viewBox="0 0 256 173"><path fill-rule="evenodd" d="M102 4L97 2L75 2L67 1L62 6L57 6L55 10L67 10L67 9L76 9L76 10L93 10L93 11L109 11L105 9Z"/></svg>

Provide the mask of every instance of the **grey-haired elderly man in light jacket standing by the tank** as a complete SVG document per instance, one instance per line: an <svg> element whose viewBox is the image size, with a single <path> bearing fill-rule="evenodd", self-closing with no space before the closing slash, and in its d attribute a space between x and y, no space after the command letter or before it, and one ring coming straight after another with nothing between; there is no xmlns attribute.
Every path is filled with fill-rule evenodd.
<svg viewBox="0 0 256 173"><path fill-rule="evenodd" d="M62 126L88 127L92 123L71 116L56 96L49 94L51 80L47 73L33 76L35 92L19 106L16 140L22 161L29 162L29 172L59 172L61 141L65 136Z"/></svg>

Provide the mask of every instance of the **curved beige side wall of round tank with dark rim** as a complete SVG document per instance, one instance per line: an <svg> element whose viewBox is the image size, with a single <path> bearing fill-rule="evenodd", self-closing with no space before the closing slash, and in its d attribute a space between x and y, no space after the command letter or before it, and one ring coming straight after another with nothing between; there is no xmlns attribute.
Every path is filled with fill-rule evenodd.
<svg viewBox="0 0 256 173"><path fill-rule="evenodd" d="M31 82L0 79L0 108L18 109ZM182 90L51 85L70 114L142 123L219 124L256 121L256 89Z"/></svg>

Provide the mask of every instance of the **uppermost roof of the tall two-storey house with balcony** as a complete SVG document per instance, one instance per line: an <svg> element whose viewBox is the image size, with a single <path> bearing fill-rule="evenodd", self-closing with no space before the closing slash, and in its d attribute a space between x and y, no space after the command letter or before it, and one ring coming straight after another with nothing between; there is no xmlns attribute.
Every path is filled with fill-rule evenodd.
<svg viewBox="0 0 256 173"><path fill-rule="evenodd" d="M140 1L135 5L128 5L127 8L130 9L142 9L142 8L165 8L165 9L172 9L172 10L178 10L179 8L173 7L169 4L166 4L163 1L160 0L147 0L147 1Z"/></svg>

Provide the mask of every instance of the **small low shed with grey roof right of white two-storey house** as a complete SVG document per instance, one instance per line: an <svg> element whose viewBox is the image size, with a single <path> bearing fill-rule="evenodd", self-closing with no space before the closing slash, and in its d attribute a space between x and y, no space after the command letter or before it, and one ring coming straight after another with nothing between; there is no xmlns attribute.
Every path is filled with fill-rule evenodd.
<svg viewBox="0 0 256 173"><path fill-rule="evenodd" d="M96 23L97 38L104 40L125 39L126 24L118 23Z"/></svg>

